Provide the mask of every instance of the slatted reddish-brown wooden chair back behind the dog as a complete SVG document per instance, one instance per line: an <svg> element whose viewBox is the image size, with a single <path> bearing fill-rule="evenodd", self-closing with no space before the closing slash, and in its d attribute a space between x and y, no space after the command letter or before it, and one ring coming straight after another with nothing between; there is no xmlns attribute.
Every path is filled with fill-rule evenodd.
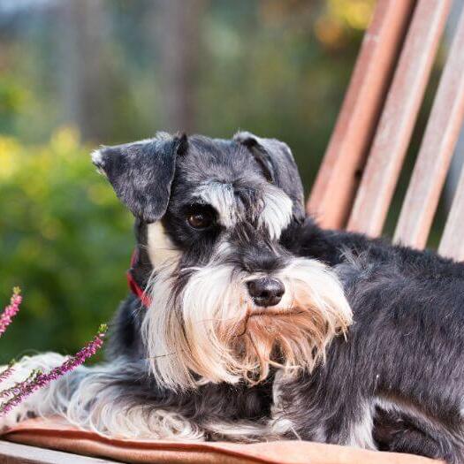
<svg viewBox="0 0 464 464"><path fill-rule="evenodd" d="M308 200L320 224L381 234L451 0L378 0ZM464 119L464 11L453 36L394 241L426 245ZM464 172L464 171L463 171ZM464 260L464 173L438 252Z"/></svg>

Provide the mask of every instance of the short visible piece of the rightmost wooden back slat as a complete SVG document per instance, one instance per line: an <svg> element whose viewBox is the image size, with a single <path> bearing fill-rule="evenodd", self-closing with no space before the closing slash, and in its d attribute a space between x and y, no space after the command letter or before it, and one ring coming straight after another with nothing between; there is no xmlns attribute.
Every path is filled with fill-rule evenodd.
<svg viewBox="0 0 464 464"><path fill-rule="evenodd" d="M460 181L453 198L453 204L446 219L438 253L455 261L464 261L464 239L462 224L464 218L464 169L460 172Z"/></svg>

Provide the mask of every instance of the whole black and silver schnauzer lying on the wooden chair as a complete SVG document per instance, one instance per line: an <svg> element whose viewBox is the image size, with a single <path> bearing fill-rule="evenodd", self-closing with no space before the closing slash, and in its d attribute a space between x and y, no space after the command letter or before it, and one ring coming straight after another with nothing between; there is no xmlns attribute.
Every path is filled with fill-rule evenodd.
<svg viewBox="0 0 464 464"><path fill-rule="evenodd" d="M133 294L108 361L4 425L57 413L110 437L285 437L464 462L464 265L321 230L280 141L160 133L93 161L136 217ZM12 380L60 361L25 358Z"/></svg>

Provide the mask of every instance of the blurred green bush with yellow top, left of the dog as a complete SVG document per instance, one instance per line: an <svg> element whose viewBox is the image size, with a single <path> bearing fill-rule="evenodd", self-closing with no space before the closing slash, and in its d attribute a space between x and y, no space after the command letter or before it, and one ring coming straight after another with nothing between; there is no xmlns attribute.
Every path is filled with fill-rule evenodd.
<svg viewBox="0 0 464 464"><path fill-rule="evenodd" d="M72 353L126 294L132 219L88 152L71 128L31 147L0 137L0 301L14 285L24 295L0 362Z"/></svg>

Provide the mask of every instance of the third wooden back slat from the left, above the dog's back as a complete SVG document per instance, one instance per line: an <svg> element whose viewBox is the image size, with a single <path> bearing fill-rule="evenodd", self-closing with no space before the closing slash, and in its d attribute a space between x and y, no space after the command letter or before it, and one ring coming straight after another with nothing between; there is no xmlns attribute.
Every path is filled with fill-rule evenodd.
<svg viewBox="0 0 464 464"><path fill-rule="evenodd" d="M464 11L422 139L394 240L423 248L464 118ZM461 217L461 226L464 216Z"/></svg>

